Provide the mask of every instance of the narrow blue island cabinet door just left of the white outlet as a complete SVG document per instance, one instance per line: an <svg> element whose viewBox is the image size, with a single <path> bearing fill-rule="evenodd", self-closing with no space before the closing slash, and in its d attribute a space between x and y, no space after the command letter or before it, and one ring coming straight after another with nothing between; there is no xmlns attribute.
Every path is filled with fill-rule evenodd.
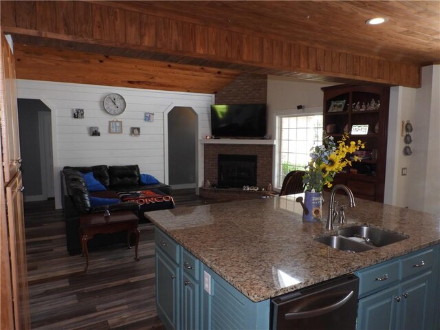
<svg viewBox="0 0 440 330"><path fill-rule="evenodd" d="M182 282L182 329L199 329L200 285L184 272Z"/></svg>

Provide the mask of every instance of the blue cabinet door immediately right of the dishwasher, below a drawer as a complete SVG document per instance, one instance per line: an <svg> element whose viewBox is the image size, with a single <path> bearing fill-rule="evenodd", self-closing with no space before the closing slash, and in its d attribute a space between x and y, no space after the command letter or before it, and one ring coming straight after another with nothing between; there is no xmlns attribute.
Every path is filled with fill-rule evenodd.
<svg viewBox="0 0 440 330"><path fill-rule="evenodd" d="M399 302L397 285L359 300L358 330L395 329L395 318Z"/></svg>

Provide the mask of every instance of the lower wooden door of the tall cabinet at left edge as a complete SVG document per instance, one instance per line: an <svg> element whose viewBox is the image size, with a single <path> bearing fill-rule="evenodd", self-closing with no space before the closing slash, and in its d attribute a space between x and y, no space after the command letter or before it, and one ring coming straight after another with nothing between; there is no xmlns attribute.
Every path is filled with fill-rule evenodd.
<svg viewBox="0 0 440 330"><path fill-rule="evenodd" d="M15 329L30 329L28 264L23 214L23 186L19 171L6 186L9 247Z"/></svg>

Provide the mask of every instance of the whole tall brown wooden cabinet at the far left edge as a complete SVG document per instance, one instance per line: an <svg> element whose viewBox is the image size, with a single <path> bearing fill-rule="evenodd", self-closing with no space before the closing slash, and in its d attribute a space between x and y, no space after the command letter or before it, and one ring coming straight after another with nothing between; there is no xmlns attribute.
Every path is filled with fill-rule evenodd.
<svg viewBox="0 0 440 330"><path fill-rule="evenodd" d="M0 34L0 328L27 330L30 311L14 55Z"/></svg>

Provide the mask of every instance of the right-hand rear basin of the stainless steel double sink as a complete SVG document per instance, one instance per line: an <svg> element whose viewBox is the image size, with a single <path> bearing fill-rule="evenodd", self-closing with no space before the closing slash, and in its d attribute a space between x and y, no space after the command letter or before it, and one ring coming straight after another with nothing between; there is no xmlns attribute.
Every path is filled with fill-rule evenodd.
<svg viewBox="0 0 440 330"><path fill-rule="evenodd" d="M340 229L338 230L338 235L344 237L356 237L375 247L381 247L408 239L408 236L404 234L397 234L379 228L371 228L366 225L357 225L355 227Z"/></svg>

